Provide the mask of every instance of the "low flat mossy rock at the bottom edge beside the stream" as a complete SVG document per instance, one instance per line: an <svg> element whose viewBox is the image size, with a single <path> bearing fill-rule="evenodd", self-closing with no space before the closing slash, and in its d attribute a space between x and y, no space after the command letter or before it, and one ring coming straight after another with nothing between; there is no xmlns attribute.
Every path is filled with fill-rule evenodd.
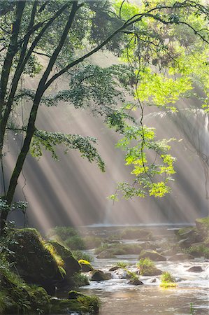
<svg viewBox="0 0 209 315"><path fill-rule="evenodd" d="M64 300L52 298L50 314L71 314L78 311L79 314L96 314L99 312L99 299L96 296L79 295L75 299Z"/></svg>

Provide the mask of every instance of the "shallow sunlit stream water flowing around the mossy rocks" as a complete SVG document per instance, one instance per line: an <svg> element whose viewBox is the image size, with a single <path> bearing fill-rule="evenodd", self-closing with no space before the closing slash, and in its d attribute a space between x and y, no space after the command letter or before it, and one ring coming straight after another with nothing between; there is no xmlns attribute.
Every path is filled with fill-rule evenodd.
<svg viewBox="0 0 209 315"><path fill-rule="evenodd" d="M166 230L161 229L161 230ZM162 236L163 238L165 236ZM134 243L137 240L125 240ZM88 251L94 255L94 251ZM96 269L108 272L118 261L136 265L138 255L118 255L111 259L97 259L92 265ZM205 258L178 262L155 262L162 271L175 276L176 288L160 288L159 276L140 276L143 286L128 284L127 279L119 279L112 273L108 281L91 281L89 286L80 288L88 295L97 295L101 299L99 315L186 315L209 314L208 285L209 265ZM201 266L203 272L188 272L192 266ZM152 282L153 279L155 282Z"/></svg>

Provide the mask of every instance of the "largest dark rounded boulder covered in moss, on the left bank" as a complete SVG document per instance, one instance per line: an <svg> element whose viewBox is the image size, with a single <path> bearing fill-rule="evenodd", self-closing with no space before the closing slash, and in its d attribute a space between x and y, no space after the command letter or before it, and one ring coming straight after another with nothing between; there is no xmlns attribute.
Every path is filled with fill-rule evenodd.
<svg viewBox="0 0 209 315"><path fill-rule="evenodd" d="M62 281L63 275L55 257L45 248L35 229L13 230L10 235L9 262L15 264L18 274L28 283L35 283L51 290Z"/></svg>

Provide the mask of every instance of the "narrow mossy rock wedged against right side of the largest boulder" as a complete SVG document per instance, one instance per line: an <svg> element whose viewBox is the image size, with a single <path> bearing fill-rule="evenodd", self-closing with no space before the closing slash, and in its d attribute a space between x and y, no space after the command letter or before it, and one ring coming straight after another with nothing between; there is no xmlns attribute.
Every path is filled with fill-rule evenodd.
<svg viewBox="0 0 209 315"><path fill-rule="evenodd" d="M78 261L73 257L73 254L68 248L62 246L57 241L50 241L50 244L52 244L57 254L64 260L64 269L68 276L72 276L75 272L80 271Z"/></svg>

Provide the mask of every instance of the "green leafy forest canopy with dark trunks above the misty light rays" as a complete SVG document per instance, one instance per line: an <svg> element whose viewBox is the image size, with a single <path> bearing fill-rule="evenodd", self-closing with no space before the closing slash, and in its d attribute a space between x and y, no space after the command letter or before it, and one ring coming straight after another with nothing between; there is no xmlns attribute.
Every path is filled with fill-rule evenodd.
<svg viewBox="0 0 209 315"><path fill-rule="evenodd" d="M180 111L178 99L196 97L209 112L208 18L204 1L0 1L0 159L3 179L8 132L24 141L8 186L1 191L1 229L13 204L17 181L30 153L43 149L57 158L55 147L80 151L102 171L105 163L94 137L38 130L39 107L73 104L101 116L121 134L117 146L125 151L133 181L118 183L125 198L163 197L175 173L169 150L175 139L157 139L143 122L145 106ZM117 56L117 64L99 66L89 57L96 52ZM43 58L45 62L43 63ZM64 77L65 90L52 86ZM36 77L29 89L23 78ZM203 97L196 94L198 86ZM131 101L130 101L131 99ZM21 102L28 104L24 120L15 118ZM136 120L136 111L139 120ZM110 199L117 200L117 192Z"/></svg>

